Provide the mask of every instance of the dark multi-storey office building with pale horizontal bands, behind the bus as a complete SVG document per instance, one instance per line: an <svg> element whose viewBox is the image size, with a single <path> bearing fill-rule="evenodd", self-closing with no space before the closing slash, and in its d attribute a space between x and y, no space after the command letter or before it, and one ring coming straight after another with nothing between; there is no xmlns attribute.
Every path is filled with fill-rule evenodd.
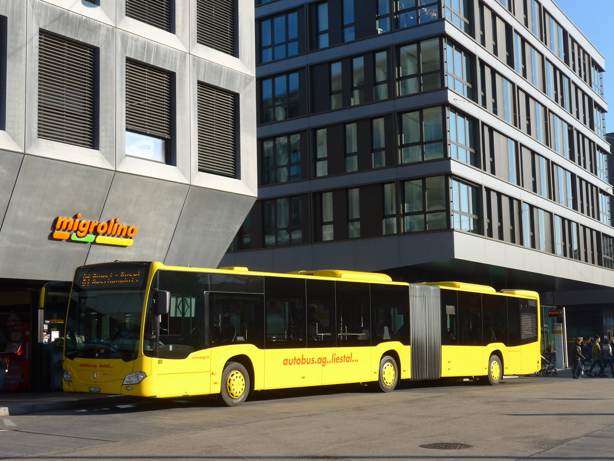
<svg viewBox="0 0 614 461"><path fill-rule="evenodd" d="M526 288L614 328L605 62L553 1L255 15L258 200L222 266Z"/></svg>

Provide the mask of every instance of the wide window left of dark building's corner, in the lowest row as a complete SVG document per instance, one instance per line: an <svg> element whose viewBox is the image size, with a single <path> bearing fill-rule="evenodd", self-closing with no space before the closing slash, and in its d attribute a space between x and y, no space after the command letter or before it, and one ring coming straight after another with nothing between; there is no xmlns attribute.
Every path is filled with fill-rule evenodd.
<svg viewBox="0 0 614 461"><path fill-rule="evenodd" d="M403 182L403 232L446 229L445 176Z"/></svg>

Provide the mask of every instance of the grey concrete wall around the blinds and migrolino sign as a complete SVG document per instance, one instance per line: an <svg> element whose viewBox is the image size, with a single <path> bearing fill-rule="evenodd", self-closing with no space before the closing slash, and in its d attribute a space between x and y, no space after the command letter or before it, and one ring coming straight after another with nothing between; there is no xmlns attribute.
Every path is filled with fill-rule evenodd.
<svg viewBox="0 0 614 461"><path fill-rule="evenodd" d="M236 57L196 43L196 0L176 0L174 30L126 17L123 0L2 0L6 122L0 126L0 278L68 280L79 264L115 259L216 267L257 195L254 5L239 0ZM96 149L37 136L38 36L99 50ZM175 76L176 164L125 155L125 61ZM198 172L196 85L235 92L236 179ZM138 227L131 246L56 240L55 218Z"/></svg>

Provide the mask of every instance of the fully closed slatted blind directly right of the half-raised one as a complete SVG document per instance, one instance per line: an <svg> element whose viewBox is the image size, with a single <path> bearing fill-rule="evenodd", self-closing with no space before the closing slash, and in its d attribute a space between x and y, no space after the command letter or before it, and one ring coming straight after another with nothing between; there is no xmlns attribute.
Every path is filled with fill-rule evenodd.
<svg viewBox="0 0 614 461"><path fill-rule="evenodd" d="M198 171L236 177L236 95L198 84Z"/></svg>

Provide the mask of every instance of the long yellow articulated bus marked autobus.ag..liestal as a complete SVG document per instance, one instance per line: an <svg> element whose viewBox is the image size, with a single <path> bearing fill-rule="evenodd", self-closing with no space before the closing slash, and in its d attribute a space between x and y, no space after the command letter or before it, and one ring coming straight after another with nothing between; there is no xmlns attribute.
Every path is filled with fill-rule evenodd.
<svg viewBox="0 0 614 461"><path fill-rule="evenodd" d="M77 268L66 317L63 388L147 397L470 377L540 369L539 298L384 274L160 262Z"/></svg>

